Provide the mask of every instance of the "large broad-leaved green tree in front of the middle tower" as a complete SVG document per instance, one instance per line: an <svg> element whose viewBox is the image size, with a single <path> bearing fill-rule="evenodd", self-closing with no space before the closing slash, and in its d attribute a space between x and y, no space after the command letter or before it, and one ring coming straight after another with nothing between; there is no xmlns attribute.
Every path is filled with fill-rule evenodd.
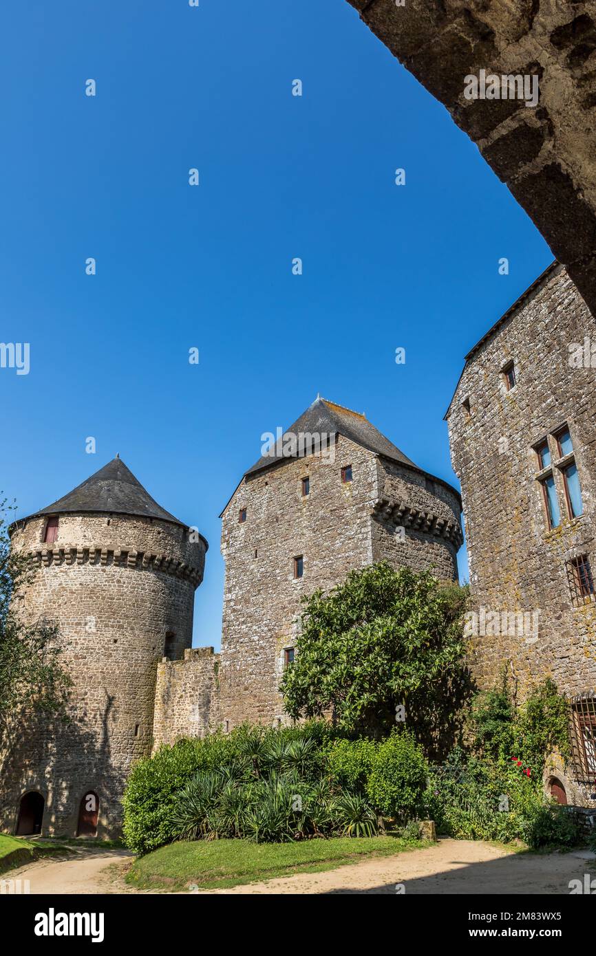
<svg viewBox="0 0 596 956"><path fill-rule="evenodd" d="M449 746L469 693L467 590L387 563L305 597L294 663L281 684L295 719L331 711L350 734L382 736L404 714L430 753Z"/></svg>

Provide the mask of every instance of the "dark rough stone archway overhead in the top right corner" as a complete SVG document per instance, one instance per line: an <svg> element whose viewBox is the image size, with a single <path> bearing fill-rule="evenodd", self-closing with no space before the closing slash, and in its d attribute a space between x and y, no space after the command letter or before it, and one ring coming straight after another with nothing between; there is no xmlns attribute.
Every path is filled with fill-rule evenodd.
<svg viewBox="0 0 596 956"><path fill-rule="evenodd" d="M475 141L596 314L596 2L348 0ZM523 99L468 99L468 75L538 76Z"/></svg>

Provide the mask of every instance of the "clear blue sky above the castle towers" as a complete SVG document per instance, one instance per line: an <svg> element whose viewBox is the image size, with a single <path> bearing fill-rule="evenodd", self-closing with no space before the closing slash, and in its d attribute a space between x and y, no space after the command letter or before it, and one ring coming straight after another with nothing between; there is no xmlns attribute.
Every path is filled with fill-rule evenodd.
<svg viewBox="0 0 596 956"><path fill-rule="evenodd" d="M0 488L24 515L120 452L209 539L217 646L218 514L261 433L320 392L454 482L463 356L552 255L345 0L4 0L0 36L0 340L31 343Z"/></svg>

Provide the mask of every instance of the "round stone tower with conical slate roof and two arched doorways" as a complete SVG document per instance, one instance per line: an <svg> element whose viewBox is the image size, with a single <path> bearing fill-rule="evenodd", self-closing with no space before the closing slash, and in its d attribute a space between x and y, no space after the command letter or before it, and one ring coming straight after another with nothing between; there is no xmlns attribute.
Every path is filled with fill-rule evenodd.
<svg viewBox="0 0 596 956"><path fill-rule="evenodd" d="M26 721L5 754L12 833L114 836L130 766L151 750L155 678L192 638L208 543L161 508L120 458L11 527L34 573L29 621L57 624L71 720Z"/></svg>

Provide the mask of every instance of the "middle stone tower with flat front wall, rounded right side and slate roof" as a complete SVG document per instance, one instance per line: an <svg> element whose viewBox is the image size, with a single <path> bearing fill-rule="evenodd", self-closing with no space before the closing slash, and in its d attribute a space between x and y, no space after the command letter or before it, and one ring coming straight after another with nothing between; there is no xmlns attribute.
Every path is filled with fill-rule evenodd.
<svg viewBox="0 0 596 956"><path fill-rule="evenodd" d="M245 472L222 513L219 718L285 722L278 685L300 598L376 561L456 578L460 498L364 415L317 399Z"/></svg>

